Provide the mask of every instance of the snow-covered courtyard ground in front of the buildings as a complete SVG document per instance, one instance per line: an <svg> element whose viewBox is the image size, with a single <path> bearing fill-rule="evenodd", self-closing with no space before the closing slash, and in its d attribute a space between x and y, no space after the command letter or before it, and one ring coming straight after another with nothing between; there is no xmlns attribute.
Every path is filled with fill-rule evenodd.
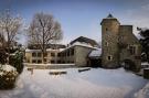
<svg viewBox="0 0 149 98"><path fill-rule="evenodd" d="M66 75L54 76L50 69L34 69L32 75L24 69L17 88L0 90L0 98L132 98L148 81L123 68L64 70Z"/></svg>

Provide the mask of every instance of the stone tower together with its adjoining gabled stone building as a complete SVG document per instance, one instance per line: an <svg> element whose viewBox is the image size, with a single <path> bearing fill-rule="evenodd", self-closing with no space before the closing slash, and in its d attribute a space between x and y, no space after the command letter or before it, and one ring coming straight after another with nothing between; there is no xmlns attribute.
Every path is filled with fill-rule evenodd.
<svg viewBox="0 0 149 98"><path fill-rule="evenodd" d="M111 14L100 24L103 67L115 68L125 64L125 67L139 69L141 45L132 33L132 25L121 25Z"/></svg>

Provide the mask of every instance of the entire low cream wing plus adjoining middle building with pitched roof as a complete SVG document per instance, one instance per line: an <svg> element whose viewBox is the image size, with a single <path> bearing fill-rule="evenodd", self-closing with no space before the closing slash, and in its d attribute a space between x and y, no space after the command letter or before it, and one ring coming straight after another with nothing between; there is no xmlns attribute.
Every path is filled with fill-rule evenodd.
<svg viewBox="0 0 149 98"><path fill-rule="evenodd" d="M88 55L96 51L97 43L94 40L79 36L70 42L67 46L60 44L50 44L46 50L44 62L46 64L74 64L76 66L91 66ZM39 45L30 45L25 50L25 59L30 64L42 63L42 52ZM93 58L93 57L92 57Z"/></svg>

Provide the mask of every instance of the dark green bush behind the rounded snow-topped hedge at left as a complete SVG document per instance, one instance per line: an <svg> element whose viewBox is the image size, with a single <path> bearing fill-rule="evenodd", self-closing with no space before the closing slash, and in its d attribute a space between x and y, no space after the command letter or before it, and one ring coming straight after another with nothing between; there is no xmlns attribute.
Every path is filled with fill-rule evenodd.
<svg viewBox="0 0 149 98"><path fill-rule="evenodd" d="M10 64L17 68L19 74L23 70L23 54L17 51L14 54L10 56Z"/></svg>

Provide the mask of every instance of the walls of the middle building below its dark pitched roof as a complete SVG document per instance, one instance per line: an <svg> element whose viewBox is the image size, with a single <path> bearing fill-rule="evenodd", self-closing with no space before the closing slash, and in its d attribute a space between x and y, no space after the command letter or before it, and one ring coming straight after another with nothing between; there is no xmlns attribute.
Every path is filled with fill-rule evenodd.
<svg viewBox="0 0 149 98"><path fill-rule="evenodd" d="M87 56L95 48L82 45L71 46L60 53L65 54L61 57L62 63L74 63L78 67L87 66Z"/></svg>

